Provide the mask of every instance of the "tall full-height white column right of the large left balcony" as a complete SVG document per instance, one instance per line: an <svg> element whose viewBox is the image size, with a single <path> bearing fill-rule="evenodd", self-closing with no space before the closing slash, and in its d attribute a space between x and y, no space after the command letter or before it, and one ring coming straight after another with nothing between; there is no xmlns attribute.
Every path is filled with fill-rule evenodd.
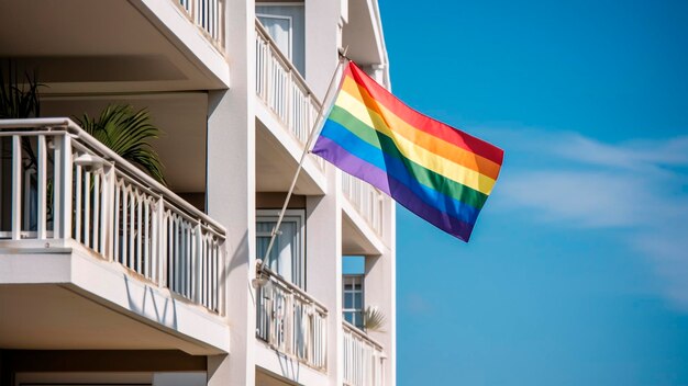
<svg viewBox="0 0 688 386"><path fill-rule="evenodd" d="M211 91L208 104L208 214L228 229L225 314L229 355L208 357L208 385L255 385L255 8L225 1L225 52L231 87Z"/></svg>

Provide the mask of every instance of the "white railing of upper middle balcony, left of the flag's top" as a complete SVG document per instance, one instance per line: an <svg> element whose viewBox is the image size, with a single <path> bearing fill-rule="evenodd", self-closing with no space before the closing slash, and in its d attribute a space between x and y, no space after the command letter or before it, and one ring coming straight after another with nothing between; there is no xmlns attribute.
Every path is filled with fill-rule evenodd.
<svg viewBox="0 0 688 386"><path fill-rule="evenodd" d="M321 102L299 71L256 19L256 94L302 146L313 128ZM324 160L314 158L324 169Z"/></svg>

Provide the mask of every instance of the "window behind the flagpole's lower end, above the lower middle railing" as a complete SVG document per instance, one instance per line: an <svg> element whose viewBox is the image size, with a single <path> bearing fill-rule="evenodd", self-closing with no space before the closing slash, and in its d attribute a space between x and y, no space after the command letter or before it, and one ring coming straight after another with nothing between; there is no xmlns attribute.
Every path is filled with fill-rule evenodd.
<svg viewBox="0 0 688 386"><path fill-rule="evenodd" d="M306 286L304 263L304 211L288 209L279 226L270 256L265 257L273 229L277 225L279 211L259 209L256 213L256 256L267 259L267 266L286 281L303 288Z"/></svg>

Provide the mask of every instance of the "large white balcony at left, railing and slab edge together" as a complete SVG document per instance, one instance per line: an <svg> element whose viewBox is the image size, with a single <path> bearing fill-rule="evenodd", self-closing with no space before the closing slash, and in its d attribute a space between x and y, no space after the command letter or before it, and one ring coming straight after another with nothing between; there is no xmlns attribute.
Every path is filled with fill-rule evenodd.
<svg viewBox="0 0 688 386"><path fill-rule="evenodd" d="M67 288L106 306L93 313L108 322L119 318L115 310L186 341L162 339L152 347L226 351L224 342L214 341L229 338L220 318L225 260L221 225L68 118L0 121L0 253L9 264L0 275L8 284L3 291L19 293L12 285L23 286L25 294L26 285L34 285L36 296L25 303L45 307L41 302L48 300L42 296ZM32 262L44 266L32 269ZM46 290L46 284L57 286ZM18 303L12 315L21 321L30 307L8 293L3 296L0 300ZM82 298L65 302L93 308ZM64 314L55 318L64 317L65 326L80 322L70 319L67 303L56 308ZM53 336L59 342L45 342L51 348L98 347L96 341L108 339L95 334L95 341L65 343Z"/></svg>

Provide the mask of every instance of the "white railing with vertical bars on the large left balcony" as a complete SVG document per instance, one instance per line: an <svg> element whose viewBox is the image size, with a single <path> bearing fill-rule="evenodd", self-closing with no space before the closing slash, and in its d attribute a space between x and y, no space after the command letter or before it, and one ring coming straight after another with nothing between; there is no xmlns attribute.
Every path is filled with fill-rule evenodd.
<svg viewBox="0 0 688 386"><path fill-rule="evenodd" d="M0 247L76 241L222 314L222 226L67 118L0 120Z"/></svg>

